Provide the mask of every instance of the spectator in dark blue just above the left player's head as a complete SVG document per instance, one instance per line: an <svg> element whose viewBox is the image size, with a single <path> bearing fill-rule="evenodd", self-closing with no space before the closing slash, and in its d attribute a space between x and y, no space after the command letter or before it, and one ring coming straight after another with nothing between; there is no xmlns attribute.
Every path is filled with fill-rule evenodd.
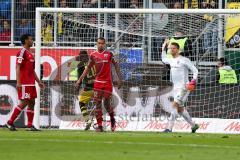
<svg viewBox="0 0 240 160"><path fill-rule="evenodd" d="M30 34L34 36L34 29L33 29L32 22L29 19L24 17L21 19L20 24L17 25L17 28L16 28L17 40L20 40L20 37L23 34Z"/></svg>

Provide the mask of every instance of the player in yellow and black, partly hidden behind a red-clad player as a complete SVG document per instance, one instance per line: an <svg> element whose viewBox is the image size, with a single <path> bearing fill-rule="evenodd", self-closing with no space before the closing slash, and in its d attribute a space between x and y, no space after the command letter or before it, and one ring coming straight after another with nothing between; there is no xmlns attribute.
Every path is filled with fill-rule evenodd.
<svg viewBox="0 0 240 160"><path fill-rule="evenodd" d="M85 50L80 51L79 56L76 57L78 78L82 75L85 67L87 66L88 59L89 57L88 57L87 51ZM79 106L81 109L81 113L86 121L85 130L89 130L91 127L91 124L93 123L93 118L90 118L91 116L89 116L89 112L87 110L86 105L89 103L89 101L93 97L93 83L94 83L95 75L96 75L95 66L93 66L90 72L87 74L87 76L83 79L81 84L81 90L79 93Z"/></svg>

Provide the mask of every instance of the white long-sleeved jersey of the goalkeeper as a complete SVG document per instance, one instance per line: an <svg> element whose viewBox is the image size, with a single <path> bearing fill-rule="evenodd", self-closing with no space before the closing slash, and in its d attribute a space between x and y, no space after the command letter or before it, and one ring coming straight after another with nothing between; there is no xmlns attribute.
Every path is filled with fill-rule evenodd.
<svg viewBox="0 0 240 160"><path fill-rule="evenodd" d="M169 58L166 55L166 51L163 51L162 61L171 66L171 81L175 89L185 88L189 81L189 70L193 73L193 79L197 80L198 70L190 59L181 55L176 58Z"/></svg>

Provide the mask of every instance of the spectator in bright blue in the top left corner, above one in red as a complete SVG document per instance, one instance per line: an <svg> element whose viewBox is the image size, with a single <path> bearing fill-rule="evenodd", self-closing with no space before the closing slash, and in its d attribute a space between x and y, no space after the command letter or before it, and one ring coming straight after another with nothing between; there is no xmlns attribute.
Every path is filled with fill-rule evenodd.
<svg viewBox="0 0 240 160"><path fill-rule="evenodd" d="M11 19L11 0L0 0L0 19Z"/></svg>

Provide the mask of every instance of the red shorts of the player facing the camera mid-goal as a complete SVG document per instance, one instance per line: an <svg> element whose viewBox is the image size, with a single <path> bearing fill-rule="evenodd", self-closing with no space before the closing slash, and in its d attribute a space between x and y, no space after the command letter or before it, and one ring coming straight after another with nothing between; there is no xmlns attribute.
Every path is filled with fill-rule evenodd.
<svg viewBox="0 0 240 160"><path fill-rule="evenodd" d="M112 96L112 83L94 82L94 100L109 99Z"/></svg>

